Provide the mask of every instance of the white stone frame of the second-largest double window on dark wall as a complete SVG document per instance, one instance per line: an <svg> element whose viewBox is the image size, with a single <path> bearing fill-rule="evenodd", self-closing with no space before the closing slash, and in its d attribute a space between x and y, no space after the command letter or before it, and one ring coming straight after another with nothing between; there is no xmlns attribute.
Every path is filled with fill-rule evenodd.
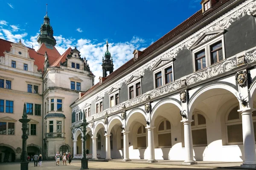
<svg viewBox="0 0 256 170"><path fill-rule="evenodd" d="M162 60L162 61L163 61L163 60ZM173 60L170 60L169 62L166 62L165 64L161 65L160 67L157 67L157 68L152 69L152 71L153 71L153 77L154 77L154 88L160 88L160 87L162 87L163 85L172 83L172 82L165 83L165 82L166 82L166 78L165 78L165 69L166 69L166 68L169 68L169 67L172 67L172 82L174 82ZM162 74L162 86L156 87L156 74L157 74L158 72L160 72L160 71L161 71L161 74Z"/></svg>

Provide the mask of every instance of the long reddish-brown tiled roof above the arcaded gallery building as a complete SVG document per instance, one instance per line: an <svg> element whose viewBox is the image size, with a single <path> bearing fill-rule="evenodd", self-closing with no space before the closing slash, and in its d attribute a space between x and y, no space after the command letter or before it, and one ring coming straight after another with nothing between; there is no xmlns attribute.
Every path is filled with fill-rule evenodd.
<svg viewBox="0 0 256 170"><path fill-rule="evenodd" d="M174 39L177 35L179 35L180 33L182 33L183 31L185 31L187 28L193 26L196 23L199 23L199 21L205 17L207 17L208 14L210 14L212 11L215 11L215 9L219 8L220 6L224 5L225 3L227 3L229 0L219 0L218 3L216 3L214 6L212 6L212 8L210 8L209 10L205 11L204 13L202 13L202 9L197 11L195 14L193 14L191 17L189 17L188 19L186 19L185 21L183 21L180 25L178 25L177 27L175 27L174 29L172 29L171 31L169 31L167 34L165 34L163 37L161 37L159 40L157 40L156 42L154 42L152 45L150 45L148 48L146 48L145 50L143 50L143 54L141 54L141 56L136 59L134 61L134 59L130 59L128 62L126 62L124 65L122 65L121 67L117 68L116 71L113 71L113 73L111 73L110 75L108 75L108 77L106 77L107 79L102 82L101 84L97 83L96 85L94 85L92 88L90 88L84 95L83 97L87 96L87 94L90 94L91 92L95 91L97 88L99 88L100 86L104 85L105 83L107 83L108 81L110 81L111 79L115 78L116 76L118 76L120 73L122 73L123 71L125 71L126 69L130 68L132 65L134 65L134 63L138 62L141 59L144 59L145 57L148 56L148 54L151 54L151 52L153 52L154 50L156 50L157 48L161 47L162 45L164 45L166 42L168 42L169 40ZM82 97L81 97L82 98Z"/></svg>

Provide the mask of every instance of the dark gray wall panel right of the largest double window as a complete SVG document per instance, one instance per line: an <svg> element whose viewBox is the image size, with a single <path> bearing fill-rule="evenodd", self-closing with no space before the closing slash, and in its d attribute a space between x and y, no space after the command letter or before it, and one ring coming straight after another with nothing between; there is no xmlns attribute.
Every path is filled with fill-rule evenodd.
<svg viewBox="0 0 256 170"><path fill-rule="evenodd" d="M245 15L224 34L226 58L256 46L255 17Z"/></svg>

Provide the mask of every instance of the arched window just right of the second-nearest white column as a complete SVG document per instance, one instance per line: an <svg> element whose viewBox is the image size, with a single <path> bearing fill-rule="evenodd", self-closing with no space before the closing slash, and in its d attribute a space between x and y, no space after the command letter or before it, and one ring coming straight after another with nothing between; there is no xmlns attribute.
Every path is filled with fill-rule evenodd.
<svg viewBox="0 0 256 170"><path fill-rule="evenodd" d="M206 119L200 112L195 111L192 115L191 130L194 146L207 146Z"/></svg>

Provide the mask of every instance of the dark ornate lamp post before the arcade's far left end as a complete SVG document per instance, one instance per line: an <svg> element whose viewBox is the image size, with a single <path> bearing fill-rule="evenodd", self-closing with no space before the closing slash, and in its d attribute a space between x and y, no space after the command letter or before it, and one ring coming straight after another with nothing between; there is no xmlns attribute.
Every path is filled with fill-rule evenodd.
<svg viewBox="0 0 256 170"><path fill-rule="evenodd" d="M83 133L82 139L83 139L83 157L81 159L81 168L80 170L87 170L88 168L88 159L86 158L86 150L85 150L85 142L86 142L86 126L87 126L85 114L83 111L83 122L81 123L81 130Z"/></svg>

